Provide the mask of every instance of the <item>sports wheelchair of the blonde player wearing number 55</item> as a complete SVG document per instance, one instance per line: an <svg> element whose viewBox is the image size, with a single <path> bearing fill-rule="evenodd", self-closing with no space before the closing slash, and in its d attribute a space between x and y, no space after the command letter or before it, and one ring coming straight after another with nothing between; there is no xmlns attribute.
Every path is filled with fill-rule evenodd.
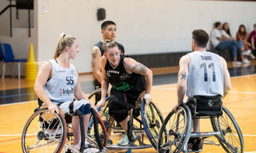
<svg viewBox="0 0 256 153"><path fill-rule="evenodd" d="M107 131L99 115L91 108L91 122L88 133L84 133L83 114L79 110L63 113L59 108L59 114L51 114L47 106L42 105L38 99L39 107L35 108L35 113L31 115L22 133L23 152L84 152L84 140L100 150L107 152ZM81 148L79 150L72 147L74 142L72 133L72 115L79 116L81 129ZM99 133L100 131L100 133ZM64 149L63 149L64 148Z"/></svg>

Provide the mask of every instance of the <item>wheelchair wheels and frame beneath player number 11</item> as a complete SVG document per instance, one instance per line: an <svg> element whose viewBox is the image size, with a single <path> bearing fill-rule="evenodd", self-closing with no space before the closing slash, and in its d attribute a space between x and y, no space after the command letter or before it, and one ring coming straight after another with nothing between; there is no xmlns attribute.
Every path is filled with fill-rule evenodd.
<svg viewBox="0 0 256 153"><path fill-rule="evenodd" d="M196 109L196 108L195 108ZM197 117L197 113L194 110L194 113L192 114L193 117L191 117L191 111L188 108L186 104L183 104L178 107L178 113L175 114L173 112L170 112L166 119L164 119L164 123L161 126L159 138L157 141L157 152L188 152L188 140L189 138L202 138L205 139L206 143L209 145L221 145L223 149L226 152L244 152L244 141L243 141L243 135L241 133L241 129L239 128L236 120L232 116L232 114L225 108L225 106L222 106L223 115L220 116L212 116L212 117L204 117L204 118L210 118L212 129L214 131L212 132L206 132L206 133L191 133L193 120L192 119L199 119L202 117ZM174 119L171 119L173 116L177 117L177 119L174 117ZM184 117L184 119L180 120L180 117ZM170 125L174 124L175 126L172 127L172 129L167 129L166 125L168 124L168 121L170 121ZM229 124L229 122L231 124ZM181 124L184 128L182 132L179 131L178 124ZM230 126L234 126L234 128ZM226 126L226 127L223 127ZM236 130L236 131L234 131ZM238 136L236 137L234 133ZM168 135L163 135L163 133L168 133ZM215 136L220 144L213 142L212 140L208 140L207 138ZM227 138L225 137L227 136ZM169 139L172 139L170 141ZM230 142L234 139L236 142ZM174 150L173 150L174 149Z"/></svg>

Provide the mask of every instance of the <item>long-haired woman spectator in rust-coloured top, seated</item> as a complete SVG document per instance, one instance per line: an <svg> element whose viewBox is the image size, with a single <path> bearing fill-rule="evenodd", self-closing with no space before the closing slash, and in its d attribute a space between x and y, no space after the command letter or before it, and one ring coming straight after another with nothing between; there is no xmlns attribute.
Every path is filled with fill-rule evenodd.
<svg viewBox="0 0 256 153"><path fill-rule="evenodd" d="M247 55L251 54L251 50L249 48L251 46L251 44L247 42L247 38L248 38L248 34L246 33L246 29L245 29L244 25L241 24L236 33L236 39L239 41L243 41L245 51L243 52L242 55L244 55L244 60L247 63L250 63L250 61L248 61L248 59L247 59Z"/></svg>

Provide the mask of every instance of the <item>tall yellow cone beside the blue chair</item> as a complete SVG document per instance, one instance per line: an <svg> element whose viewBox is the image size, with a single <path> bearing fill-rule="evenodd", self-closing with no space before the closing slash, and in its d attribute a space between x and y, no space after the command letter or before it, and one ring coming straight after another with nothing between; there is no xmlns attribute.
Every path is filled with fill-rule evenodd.
<svg viewBox="0 0 256 153"><path fill-rule="evenodd" d="M30 45L29 59L26 63L26 80L36 80L37 75L37 63L34 58L33 44Z"/></svg>

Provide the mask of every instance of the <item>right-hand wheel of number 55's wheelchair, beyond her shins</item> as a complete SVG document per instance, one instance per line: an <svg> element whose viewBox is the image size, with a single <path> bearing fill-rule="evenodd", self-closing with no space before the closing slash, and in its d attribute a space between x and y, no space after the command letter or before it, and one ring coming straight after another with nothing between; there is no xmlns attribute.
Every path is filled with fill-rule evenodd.
<svg viewBox="0 0 256 153"><path fill-rule="evenodd" d="M99 116L98 114L97 114L97 119L98 119L98 129L99 129L100 140L101 140L101 143L102 143L103 147L106 147L107 144L108 144L108 133L107 133L107 131L106 131L106 128L105 128L105 126L104 126L104 123L102 122L102 120L100 119L100 116ZM88 129L88 136L89 136L94 142L96 142L92 116L90 117L90 124L89 124L89 129Z"/></svg>

